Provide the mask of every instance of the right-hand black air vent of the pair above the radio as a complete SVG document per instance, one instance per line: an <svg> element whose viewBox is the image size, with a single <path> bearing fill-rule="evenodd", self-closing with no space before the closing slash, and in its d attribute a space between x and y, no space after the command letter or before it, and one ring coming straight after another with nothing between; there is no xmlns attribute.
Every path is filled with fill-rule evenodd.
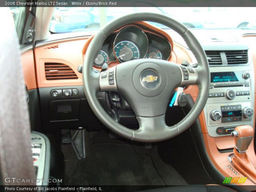
<svg viewBox="0 0 256 192"><path fill-rule="evenodd" d="M248 63L248 50L225 51L228 65Z"/></svg>

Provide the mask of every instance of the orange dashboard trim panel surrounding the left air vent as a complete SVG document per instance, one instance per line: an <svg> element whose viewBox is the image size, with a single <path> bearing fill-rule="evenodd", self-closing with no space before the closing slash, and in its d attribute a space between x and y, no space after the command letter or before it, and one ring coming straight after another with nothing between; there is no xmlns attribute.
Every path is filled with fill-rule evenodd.
<svg viewBox="0 0 256 192"><path fill-rule="evenodd" d="M35 49L37 87L83 85L82 74L77 71L77 67L83 65L81 50L88 38L37 47ZM54 46L57 48L50 48ZM46 80L44 62L66 64L73 69L78 79Z"/></svg>

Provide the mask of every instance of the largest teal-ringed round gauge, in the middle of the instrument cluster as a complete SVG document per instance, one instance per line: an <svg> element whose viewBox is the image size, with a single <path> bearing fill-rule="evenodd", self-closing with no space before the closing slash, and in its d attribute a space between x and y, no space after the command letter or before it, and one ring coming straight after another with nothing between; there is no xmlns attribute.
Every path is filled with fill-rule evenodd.
<svg viewBox="0 0 256 192"><path fill-rule="evenodd" d="M138 47L130 41L121 41L114 47L116 58L120 62L139 59L140 52Z"/></svg>

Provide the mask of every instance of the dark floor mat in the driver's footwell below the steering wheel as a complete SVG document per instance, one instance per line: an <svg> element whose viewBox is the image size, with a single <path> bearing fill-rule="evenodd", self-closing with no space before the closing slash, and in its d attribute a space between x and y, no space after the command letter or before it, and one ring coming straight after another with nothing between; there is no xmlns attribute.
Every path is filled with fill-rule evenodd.
<svg viewBox="0 0 256 192"><path fill-rule="evenodd" d="M92 155L80 160L69 185L164 185L147 155L130 145L94 144Z"/></svg>

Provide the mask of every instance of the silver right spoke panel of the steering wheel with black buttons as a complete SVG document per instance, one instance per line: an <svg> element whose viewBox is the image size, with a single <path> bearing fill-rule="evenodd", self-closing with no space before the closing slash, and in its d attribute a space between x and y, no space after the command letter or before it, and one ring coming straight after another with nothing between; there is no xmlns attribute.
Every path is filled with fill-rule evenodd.
<svg viewBox="0 0 256 192"><path fill-rule="evenodd" d="M180 86L194 85L198 81L198 73L196 68L189 68L180 65L182 75Z"/></svg>

